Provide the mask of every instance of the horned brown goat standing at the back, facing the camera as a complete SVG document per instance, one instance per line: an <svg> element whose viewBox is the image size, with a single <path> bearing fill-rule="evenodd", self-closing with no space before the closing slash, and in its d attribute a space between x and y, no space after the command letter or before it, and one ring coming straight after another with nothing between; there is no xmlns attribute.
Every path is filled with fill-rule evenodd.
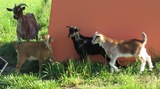
<svg viewBox="0 0 160 89"><path fill-rule="evenodd" d="M23 7L22 7L23 6ZM14 8L7 8L8 11L13 11L13 18L17 20L17 41L21 43L21 38L29 41L30 39L38 40L38 24L34 14L27 13L23 15L23 10L25 10L24 3L14 6Z"/></svg>

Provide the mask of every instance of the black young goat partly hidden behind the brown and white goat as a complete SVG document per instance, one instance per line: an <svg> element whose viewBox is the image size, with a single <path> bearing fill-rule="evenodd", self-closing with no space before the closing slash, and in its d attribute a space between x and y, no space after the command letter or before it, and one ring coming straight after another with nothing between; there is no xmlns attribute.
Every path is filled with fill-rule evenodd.
<svg viewBox="0 0 160 89"><path fill-rule="evenodd" d="M72 39L74 43L74 48L80 56L80 60L85 59L86 55L96 55L101 54L108 62L110 58L106 56L105 51L98 44L92 44L92 37L84 37L79 33L80 29L75 26L66 26L69 29L68 37ZM118 61L116 65L120 66Z"/></svg>

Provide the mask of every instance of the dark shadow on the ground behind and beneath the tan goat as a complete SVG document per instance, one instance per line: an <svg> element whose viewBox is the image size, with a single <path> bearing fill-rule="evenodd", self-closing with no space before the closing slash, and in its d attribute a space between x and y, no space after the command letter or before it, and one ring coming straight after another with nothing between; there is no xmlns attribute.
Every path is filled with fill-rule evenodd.
<svg viewBox="0 0 160 89"><path fill-rule="evenodd" d="M0 56L4 58L8 65L2 74L15 72L17 64L17 53L14 49L15 42L0 42ZM21 68L21 73L37 73L39 69L38 61L26 61Z"/></svg>

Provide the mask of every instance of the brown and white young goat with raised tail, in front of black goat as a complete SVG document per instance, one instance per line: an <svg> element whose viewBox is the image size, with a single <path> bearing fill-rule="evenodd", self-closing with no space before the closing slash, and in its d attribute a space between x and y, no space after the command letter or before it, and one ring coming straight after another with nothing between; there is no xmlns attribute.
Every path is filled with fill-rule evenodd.
<svg viewBox="0 0 160 89"><path fill-rule="evenodd" d="M141 62L140 73L142 73L145 69L146 62L148 62L150 71L152 71L153 68L151 57L148 55L145 48L145 45L147 43L147 35L144 32L142 33L142 38L142 40L114 40L96 32L94 34L92 43L102 46L106 54L111 58L109 64L112 68L112 72L113 69L116 72L119 71L119 69L115 66L117 58L134 56L135 58L138 58Z"/></svg>

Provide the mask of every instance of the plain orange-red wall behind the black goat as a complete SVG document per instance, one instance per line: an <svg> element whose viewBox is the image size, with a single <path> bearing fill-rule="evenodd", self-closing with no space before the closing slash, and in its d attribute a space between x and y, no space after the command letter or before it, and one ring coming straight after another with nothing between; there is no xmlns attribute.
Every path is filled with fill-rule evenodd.
<svg viewBox="0 0 160 89"><path fill-rule="evenodd" d="M142 39L148 36L147 49L160 50L160 0L53 0L49 34L54 37L58 61L78 58L65 26L81 29L85 36L95 31L114 39Z"/></svg>

